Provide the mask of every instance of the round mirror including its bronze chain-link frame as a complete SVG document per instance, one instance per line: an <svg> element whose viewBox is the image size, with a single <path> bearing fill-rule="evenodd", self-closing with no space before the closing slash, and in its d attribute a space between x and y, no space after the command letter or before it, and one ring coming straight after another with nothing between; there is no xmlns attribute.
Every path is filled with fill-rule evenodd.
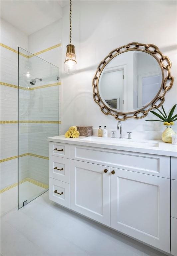
<svg viewBox="0 0 177 256"><path fill-rule="evenodd" d="M155 45L135 42L121 46L97 68L92 83L94 101L104 114L118 120L142 118L163 104L164 95L173 84L170 68L169 58ZM159 97L162 89L165 91Z"/></svg>

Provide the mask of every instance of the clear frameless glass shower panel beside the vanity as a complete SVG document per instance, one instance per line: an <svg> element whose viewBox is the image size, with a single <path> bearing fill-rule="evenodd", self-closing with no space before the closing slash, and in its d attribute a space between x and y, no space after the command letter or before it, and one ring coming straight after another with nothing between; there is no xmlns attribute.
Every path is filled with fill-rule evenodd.
<svg viewBox="0 0 177 256"><path fill-rule="evenodd" d="M49 188L47 137L59 135L59 68L19 47L18 208Z"/></svg>

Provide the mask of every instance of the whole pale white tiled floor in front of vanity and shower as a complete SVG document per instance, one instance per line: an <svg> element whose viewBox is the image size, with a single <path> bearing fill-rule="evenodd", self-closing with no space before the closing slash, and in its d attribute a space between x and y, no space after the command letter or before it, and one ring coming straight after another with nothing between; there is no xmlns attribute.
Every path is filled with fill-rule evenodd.
<svg viewBox="0 0 177 256"><path fill-rule="evenodd" d="M1 253L4 256L163 255L55 204L49 200L48 192L20 210L14 209L4 215L1 232Z"/></svg>

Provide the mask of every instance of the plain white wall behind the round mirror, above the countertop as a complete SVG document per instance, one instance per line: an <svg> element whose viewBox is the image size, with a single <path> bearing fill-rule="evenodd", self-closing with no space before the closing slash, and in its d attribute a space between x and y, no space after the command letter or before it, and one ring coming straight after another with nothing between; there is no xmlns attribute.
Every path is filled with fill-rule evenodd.
<svg viewBox="0 0 177 256"><path fill-rule="evenodd" d="M63 8L63 62L69 43L69 6ZM71 125L106 125L117 121L106 116L93 101L92 79L99 62L114 48L130 42L152 43L172 61L173 88L165 97L167 111L177 102L176 89L176 1L73 1L72 43L78 73L62 74L63 134ZM155 119L150 113L148 119ZM162 131L160 122L126 120L123 131ZM158 133L157 133L158 134ZM160 133L159 133L160 134Z"/></svg>

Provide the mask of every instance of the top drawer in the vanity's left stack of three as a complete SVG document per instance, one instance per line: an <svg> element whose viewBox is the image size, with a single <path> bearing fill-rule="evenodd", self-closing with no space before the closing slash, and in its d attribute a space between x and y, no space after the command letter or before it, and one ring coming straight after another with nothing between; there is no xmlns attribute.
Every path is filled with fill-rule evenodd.
<svg viewBox="0 0 177 256"><path fill-rule="evenodd" d="M49 155L70 158L70 144L50 142Z"/></svg>

